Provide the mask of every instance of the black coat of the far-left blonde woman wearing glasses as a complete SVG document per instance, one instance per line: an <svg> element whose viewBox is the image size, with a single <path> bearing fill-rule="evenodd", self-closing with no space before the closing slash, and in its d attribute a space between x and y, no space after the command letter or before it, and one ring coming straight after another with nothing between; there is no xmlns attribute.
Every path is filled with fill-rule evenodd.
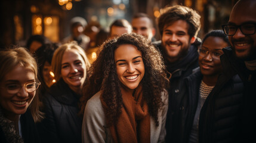
<svg viewBox="0 0 256 143"><path fill-rule="evenodd" d="M24 143L34 143L41 142L38 135L38 130L36 129L35 122L30 110L27 110L26 113L20 116L20 125L21 125L21 134ZM4 131L0 127L0 142L7 143L5 139Z"/></svg>

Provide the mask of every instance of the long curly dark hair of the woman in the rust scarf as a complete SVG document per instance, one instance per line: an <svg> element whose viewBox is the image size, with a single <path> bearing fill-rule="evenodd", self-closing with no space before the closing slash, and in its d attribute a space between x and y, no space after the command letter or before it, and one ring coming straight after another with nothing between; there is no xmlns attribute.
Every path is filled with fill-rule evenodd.
<svg viewBox="0 0 256 143"><path fill-rule="evenodd" d="M114 60L115 50L124 44L131 44L141 52L144 63L144 77L141 80L143 98L149 105L149 114L153 117L156 125L158 122L159 110L162 110L162 92L166 92L169 80L166 77L166 70L160 52L143 36L135 33L124 34L118 38L106 41L100 47L100 53L91 69L89 79L84 87L84 95L81 98L81 114L84 114L86 102L98 91L102 91L102 98L110 107L106 111L106 117L110 124L114 123L121 114L122 93L121 82L116 73ZM166 93L165 93L166 95Z"/></svg>

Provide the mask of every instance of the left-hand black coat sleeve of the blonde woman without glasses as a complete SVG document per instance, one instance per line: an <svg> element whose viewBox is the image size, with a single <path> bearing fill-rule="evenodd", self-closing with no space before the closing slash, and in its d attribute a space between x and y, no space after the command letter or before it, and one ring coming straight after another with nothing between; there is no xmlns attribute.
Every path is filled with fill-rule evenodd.
<svg viewBox="0 0 256 143"><path fill-rule="evenodd" d="M51 96L51 95L50 95ZM41 123L39 123L38 128L39 128L39 136L42 140L42 142L60 142L58 135L57 135L57 128L56 128L56 123L54 119L54 114L53 114L53 107L51 105L51 99L50 96L47 96L43 100L44 104L44 120L42 120Z"/></svg>

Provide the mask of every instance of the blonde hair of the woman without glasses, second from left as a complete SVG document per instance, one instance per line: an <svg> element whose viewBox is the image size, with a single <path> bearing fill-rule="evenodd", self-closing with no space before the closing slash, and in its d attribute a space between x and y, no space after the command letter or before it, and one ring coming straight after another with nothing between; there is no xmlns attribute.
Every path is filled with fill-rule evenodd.
<svg viewBox="0 0 256 143"><path fill-rule="evenodd" d="M91 63L88 60L84 49L81 48L75 41L72 41L70 43L64 43L63 45L59 46L54 54L53 54L53 60L51 61L51 67L53 68L53 72L55 75L56 81L60 80L61 78L61 61L64 55L64 52L67 51L67 49L75 49L81 57L85 61L85 66L87 67L87 71L91 67Z"/></svg>

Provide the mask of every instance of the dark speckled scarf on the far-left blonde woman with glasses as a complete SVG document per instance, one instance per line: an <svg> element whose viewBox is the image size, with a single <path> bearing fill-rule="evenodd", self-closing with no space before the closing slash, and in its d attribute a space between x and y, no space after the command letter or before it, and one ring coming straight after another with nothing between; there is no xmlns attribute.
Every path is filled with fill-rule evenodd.
<svg viewBox="0 0 256 143"><path fill-rule="evenodd" d="M8 120L4 117L2 113L2 108L0 107L0 128L4 132L5 139L10 143L21 143L23 139L18 135L16 129L14 128L14 122Z"/></svg>

